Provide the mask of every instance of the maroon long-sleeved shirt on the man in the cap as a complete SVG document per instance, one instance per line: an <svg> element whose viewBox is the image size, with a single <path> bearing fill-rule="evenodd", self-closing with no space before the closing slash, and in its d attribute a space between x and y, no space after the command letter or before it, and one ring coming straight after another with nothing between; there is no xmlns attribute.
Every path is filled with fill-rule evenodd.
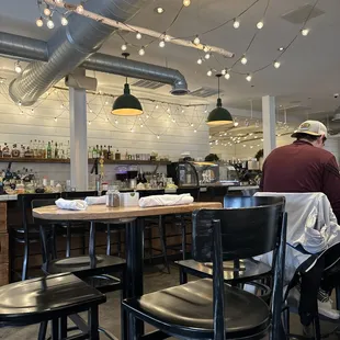
<svg viewBox="0 0 340 340"><path fill-rule="evenodd" d="M296 140L274 149L263 163L263 192L322 192L340 222L340 174L327 150Z"/></svg>

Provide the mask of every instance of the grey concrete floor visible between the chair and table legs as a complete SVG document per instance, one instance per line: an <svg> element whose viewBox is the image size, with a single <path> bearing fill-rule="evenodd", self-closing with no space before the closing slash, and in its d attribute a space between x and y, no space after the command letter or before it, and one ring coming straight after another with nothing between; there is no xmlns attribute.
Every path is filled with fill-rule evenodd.
<svg viewBox="0 0 340 340"><path fill-rule="evenodd" d="M179 284L178 271L171 267L171 274L162 271L162 268L152 267L147 268L145 273L145 292L158 291L165 287L170 287ZM107 329L113 335L120 338L120 294L109 293L107 302L100 306L100 325ZM302 327L299 319L296 316L291 320L291 332L302 335ZM322 332L330 331L335 328L333 325L321 325ZM146 327L150 330L149 327ZM30 326L24 328L3 328L0 329L0 339L5 340L34 340L37 338L38 326ZM101 340L107 339L101 336ZM339 339L336 335L328 338L329 340Z"/></svg>

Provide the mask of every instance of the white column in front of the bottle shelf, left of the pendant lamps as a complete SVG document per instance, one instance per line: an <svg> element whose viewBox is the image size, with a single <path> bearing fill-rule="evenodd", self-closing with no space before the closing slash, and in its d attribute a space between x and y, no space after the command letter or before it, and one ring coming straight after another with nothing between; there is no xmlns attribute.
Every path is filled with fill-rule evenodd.
<svg viewBox="0 0 340 340"><path fill-rule="evenodd" d="M87 92L69 88L71 188L88 190Z"/></svg>

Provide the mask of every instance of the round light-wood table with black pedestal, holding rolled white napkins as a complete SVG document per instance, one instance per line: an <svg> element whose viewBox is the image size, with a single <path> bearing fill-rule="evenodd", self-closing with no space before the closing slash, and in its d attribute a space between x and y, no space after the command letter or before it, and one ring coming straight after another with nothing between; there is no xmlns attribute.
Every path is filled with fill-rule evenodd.
<svg viewBox="0 0 340 340"><path fill-rule="evenodd" d="M135 220L126 224L126 294L127 297L141 296L144 292L143 267L144 267L144 219L147 216L186 214L200 208L220 208L219 202L197 202L188 205L155 206L141 208L132 207L106 207L105 205L90 205L86 211L64 211L57 206L45 206L33 209L33 216L48 220L112 220L118 218L134 217ZM92 225L92 224L91 224ZM91 229L94 229L91 227ZM92 248L92 247L91 247ZM94 249L89 249L94 251ZM127 322L122 318L122 324ZM144 333L144 325L136 321L135 335ZM126 330L126 325L122 329ZM129 325L132 327L132 325ZM124 332L123 338L126 337Z"/></svg>

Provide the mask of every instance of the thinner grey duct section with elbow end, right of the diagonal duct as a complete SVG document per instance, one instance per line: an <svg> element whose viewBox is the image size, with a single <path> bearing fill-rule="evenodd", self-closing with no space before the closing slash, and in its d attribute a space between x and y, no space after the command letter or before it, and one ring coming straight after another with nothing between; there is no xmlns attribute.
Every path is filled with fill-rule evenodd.
<svg viewBox="0 0 340 340"><path fill-rule="evenodd" d="M189 93L184 76L175 69L112 57L100 53L87 58L82 66L93 71L168 83L172 86L170 92L173 95Z"/></svg>

